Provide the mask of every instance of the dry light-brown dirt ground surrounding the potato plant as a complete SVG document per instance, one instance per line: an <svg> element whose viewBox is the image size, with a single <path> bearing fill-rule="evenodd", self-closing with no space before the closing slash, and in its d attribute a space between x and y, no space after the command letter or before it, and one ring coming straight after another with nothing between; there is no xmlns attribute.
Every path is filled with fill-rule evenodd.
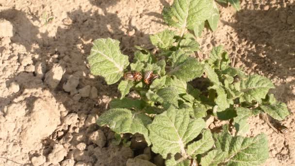
<svg viewBox="0 0 295 166"><path fill-rule="evenodd" d="M8 27L0 29L0 166L126 165L136 152L112 145L114 133L95 124L119 96L117 84L93 77L86 57L97 38L120 40L128 55L134 45L152 48L148 35L167 28L161 11L169 3L0 0L0 24ZM291 134L280 136L259 116L247 134L268 135L265 166L295 166L295 1L242 0L241 8L219 5L218 29L203 32L199 54L224 45L237 53L236 66L272 79L291 112L281 122Z"/></svg>

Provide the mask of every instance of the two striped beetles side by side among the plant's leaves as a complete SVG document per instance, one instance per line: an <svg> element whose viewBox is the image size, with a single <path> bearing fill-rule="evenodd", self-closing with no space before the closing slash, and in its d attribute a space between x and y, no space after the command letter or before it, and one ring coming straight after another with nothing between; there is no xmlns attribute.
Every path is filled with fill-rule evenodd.
<svg viewBox="0 0 295 166"><path fill-rule="evenodd" d="M138 71L128 71L127 73L124 73L124 78L131 81L141 81L142 74ZM150 84L157 78L160 78L159 74L153 74L153 71L148 70L145 72L144 82L146 84Z"/></svg>

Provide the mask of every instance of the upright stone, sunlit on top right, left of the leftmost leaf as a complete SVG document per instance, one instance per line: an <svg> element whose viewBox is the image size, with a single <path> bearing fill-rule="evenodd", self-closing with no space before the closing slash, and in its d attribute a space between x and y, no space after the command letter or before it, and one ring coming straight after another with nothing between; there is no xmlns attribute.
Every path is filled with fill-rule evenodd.
<svg viewBox="0 0 295 166"><path fill-rule="evenodd" d="M64 73L65 70L60 64L52 66L51 70L49 70L45 75L45 83L47 83L50 88L55 89L61 81Z"/></svg>

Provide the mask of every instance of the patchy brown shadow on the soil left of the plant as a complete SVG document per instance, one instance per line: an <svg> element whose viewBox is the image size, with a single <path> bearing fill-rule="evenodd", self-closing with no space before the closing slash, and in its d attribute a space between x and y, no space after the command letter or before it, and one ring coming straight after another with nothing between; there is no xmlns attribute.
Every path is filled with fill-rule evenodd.
<svg viewBox="0 0 295 166"><path fill-rule="evenodd" d="M121 42L120 47L123 53L131 55L133 45L140 45L140 41L148 40L148 34L139 32L136 27L132 27L131 25L125 28L128 31L135 31L133 35L128 35L122 31L121 20L117 17L117 14L107 11L109 6L115 5L117 2L118 0L90 0L90 3L97 6L102 13L98 14L98 11L93 12L91 10L83 12L82 9L69 12L67 13L67 18L63 20L64 25L58 27L56 35L53 37L49 36L47 32L39 32L40 26L33 25L32 21L26 16L27 14L22 11L15 9L1 11L0 18L4 18L14 25L16 33L11 37L11 43L22 45L25 47L27 53L38 55L33 58L33 65L36 62L43 62L46 64L46 72L48 72L54 64L61 64L66 70L61 82L55 89L49 89L45 83L42 83L44 77L41 81L34 76L34 73L21 72L17 75L10 76L11 79L6 81L6 84L9 85L12 82L17 82L21 90L15 94L11 94L8 98L0 98L0 111L3 113L3 116L5 116L3 108L21 96L24 89L38 88L50 90L57 102L63 103L69 113L77 113L78 115L95 113L100 115L104 112L108 101L103 102L99 100L106 97L118 97L120 94L116 89L117 84L107 85L101 77L89 77L90 71L86 66L86 57L90 53L92 41L97 38L107 37L117 39ZM36 18L36 20L41 25L40 18ZM80 83L77 89L88 84L95 86L98 89L98 99L81 98L78 102L72 100L69 93L63 92L62 86L66 82L66 76L75 73L78 73L80 76ZM32 105L33 103L28 104ZM32 106L28 107L28 113L32 111L32 108ZM89 110L89 108L94 109ZM86 130L86 128L82 127L80 128L81 130ZM95 130L97 130L97 126L87 129L87 133ZM104 131L108 132L106 130ZM67 131L63 132L63 135L65 135ZM52 150L52 145L50 145L53 142L52 135L44 143L45 149L47 149L44 150L46 153L50 152L50 149ZM97 159L93 160L95 163Z"/></svg>

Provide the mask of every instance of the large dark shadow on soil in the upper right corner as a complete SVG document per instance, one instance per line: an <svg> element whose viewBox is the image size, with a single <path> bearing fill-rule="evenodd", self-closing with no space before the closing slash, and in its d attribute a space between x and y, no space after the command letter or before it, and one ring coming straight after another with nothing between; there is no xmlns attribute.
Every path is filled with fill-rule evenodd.
<svg viewBox="0 0 295 166"><path fill-rule="evenodd" d="M270 5L270 4L268 4ZM277 90L281 100L294 100L292 86L295 80L295 5L269 10L242 9L235 14L237 23L227 24L238 33L237 43L246 43L249 49L241 55L247 67L262 72L271 78L283 79ZM253 49L254 48L254 49ZM239 55L239 50L237 50ZM261 74L261 73L260 73ZM289 94L289 96L285 96Z"/></svg>

